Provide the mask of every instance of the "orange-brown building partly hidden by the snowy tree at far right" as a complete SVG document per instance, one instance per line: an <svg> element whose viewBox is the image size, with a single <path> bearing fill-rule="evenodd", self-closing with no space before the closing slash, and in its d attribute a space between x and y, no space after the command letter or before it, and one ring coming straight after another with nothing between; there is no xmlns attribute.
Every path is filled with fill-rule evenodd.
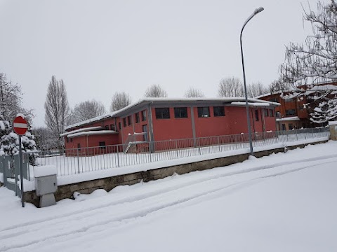
<svg viewBox="0 0 337 252"><path fill-rule="evenodd" d="M334 99L337 97L337 83L320 83L312 85L300 85L293 90L283 90L272 94L263 94L256 99L269 102L278 102L275 111L277 113L277 129L293 130L302 127L319 127L310 121L310 113L322 99Z"/></svg>

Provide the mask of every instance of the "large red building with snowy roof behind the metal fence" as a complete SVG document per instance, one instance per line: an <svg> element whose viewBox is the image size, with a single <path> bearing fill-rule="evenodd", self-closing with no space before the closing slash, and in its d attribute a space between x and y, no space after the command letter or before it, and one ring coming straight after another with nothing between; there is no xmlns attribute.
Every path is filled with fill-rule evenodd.
<svg viewBox="0 0 337 252"><path fill-rule="evenodd" d="M244 98L143 99L119 111L67 126L61 137L65 138L66 149L72 149L247 133L244 101ZM278 105L249 99L252 132L276 131Z"/></svg>

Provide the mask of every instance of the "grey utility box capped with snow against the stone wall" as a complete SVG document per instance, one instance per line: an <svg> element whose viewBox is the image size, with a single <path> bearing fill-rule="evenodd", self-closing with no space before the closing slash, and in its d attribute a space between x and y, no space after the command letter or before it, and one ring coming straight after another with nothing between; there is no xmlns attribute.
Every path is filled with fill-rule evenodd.
<svg viewBox="0 0 337 252"><path fill-rule="evenodd" d="M58 190L57 174L53 165L34 167L35 192L40 197L40 207L56 204L54 193Z"/></svg>

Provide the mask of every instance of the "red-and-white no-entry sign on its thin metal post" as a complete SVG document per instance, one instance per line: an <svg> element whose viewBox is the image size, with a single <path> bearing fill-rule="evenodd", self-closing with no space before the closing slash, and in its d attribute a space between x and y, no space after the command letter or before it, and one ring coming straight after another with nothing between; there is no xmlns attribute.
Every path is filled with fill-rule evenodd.
<svg viewBox="0 0 337 252"><path fill-rule="evenodd" d="M23 165L22 165L22 148L21 136L27 132L27 120L22 114L18 114L13 120L13 130L19 136L19 165L20 165L20 182L21 182L21 205L25 207L24 191L23 191Z"/></svg>

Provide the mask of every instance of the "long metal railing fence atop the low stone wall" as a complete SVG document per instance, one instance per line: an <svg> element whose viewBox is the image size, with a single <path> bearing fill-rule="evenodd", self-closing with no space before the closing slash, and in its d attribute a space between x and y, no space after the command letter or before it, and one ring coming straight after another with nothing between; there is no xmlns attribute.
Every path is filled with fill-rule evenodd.
<svg viewBox="0 0 337 252"><path fill-rule="evenodd" d="M256 132L253 134L252 139L253 147L258 147L328 136L329 130L322 127L282 132ZM58 168L58 176L67 176L101 169L142 165L150 162L174 160L242 148L249 148L248 134L154 142L135 141L133 145L128 143L127 146L126 144L120 144L74 148L52 154L41 151L37 158L37 165L55 165ZM126 149L128 149L127 153L125 153Z"/></svg>

